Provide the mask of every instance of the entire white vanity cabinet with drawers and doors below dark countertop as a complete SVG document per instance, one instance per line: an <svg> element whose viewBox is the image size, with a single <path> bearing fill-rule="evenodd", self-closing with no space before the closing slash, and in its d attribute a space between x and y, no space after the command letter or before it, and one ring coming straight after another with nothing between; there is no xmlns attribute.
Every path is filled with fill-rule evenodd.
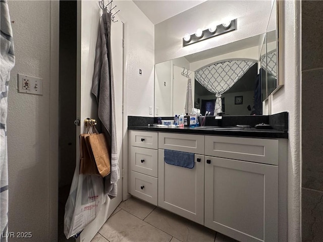
<svg viewBox="0 0 323 242"><path fill-rule="evenodd" d="M286 240L287 140L130 131L130 141L133 196L241 242ZM167 164L165 149L194 153L194 167Z"/></svg>

